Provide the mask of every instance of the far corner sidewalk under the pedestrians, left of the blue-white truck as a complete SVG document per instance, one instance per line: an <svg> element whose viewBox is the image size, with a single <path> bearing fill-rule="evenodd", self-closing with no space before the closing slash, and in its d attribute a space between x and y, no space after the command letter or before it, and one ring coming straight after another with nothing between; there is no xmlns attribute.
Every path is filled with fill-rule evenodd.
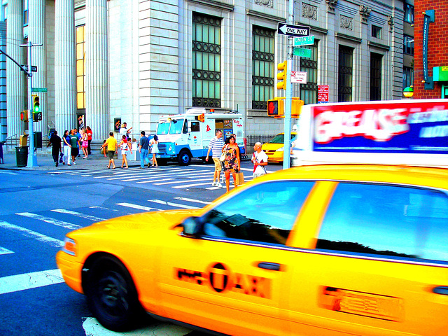
<svg viewBox="0 0 448 336"><path fill-rule="evenodd" d="M76 158L76 165L71 164L71 166L62 165L59 163L59 167L55 166L55 162L51 156L50 151L38 151L37 155L37 166L38 167L17 167L16 153L13 152L3 152L4 163L0 163L0 169L10 169L10 170L55 170L55 169L107 169L109 165L109 159L104 158L103 154L96 154L92 151L92 155L89 155L88 159L83 159L82 156ZM121 156L119 159L114 158L115 165L117 169L121 167ZM129 167L139 167L140 161L127 161Z"/></svg>

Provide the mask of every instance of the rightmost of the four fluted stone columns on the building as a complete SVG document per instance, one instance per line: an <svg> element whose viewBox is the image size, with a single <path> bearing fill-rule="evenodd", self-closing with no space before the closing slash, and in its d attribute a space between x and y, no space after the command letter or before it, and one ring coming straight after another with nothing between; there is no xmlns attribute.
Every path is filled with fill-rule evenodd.
<svg viewBox="0 0 448 336"><path fill-rule="evenodd" d="M109 122L107 1L85 1L85 125L94 139L107 139Z"/></svg>

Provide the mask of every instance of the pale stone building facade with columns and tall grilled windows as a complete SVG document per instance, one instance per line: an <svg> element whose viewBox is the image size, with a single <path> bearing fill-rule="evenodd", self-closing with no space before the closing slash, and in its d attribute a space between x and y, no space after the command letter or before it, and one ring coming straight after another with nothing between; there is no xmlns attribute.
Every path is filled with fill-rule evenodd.
<svg viewBox="0 0 448 336"><path fill-rule="evenodd" d="M82 122L101 140L119 120L154 133L161 115L191 107L243 113L246 135L283 129L267 117L266 101L285 95L276 65L287 57L288 38L277 34L287 0L23 2L3 0L6 44L20 62L27 38L43 44L31 52L33 86L48 88L43 122L34 124L43 134ZM294 84L293 97L315 103L318 85L329 85L330 102L400 99L404 8L394 0L296 0L295 24L309 26L315 43L304 46L310 58L295 58L293 70L307 72L308 83ZM24 10L29 34L21 38ZM26 128L18 113L28 94L24 74L6 64L3 139Z"/></svg>

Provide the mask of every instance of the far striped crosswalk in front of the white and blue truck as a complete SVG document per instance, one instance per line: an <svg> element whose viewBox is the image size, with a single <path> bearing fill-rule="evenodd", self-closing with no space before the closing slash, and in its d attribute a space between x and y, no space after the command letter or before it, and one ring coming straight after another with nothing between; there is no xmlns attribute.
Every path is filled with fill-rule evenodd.
<svg viewBox="0 0 448 336"><path fill-rule="evenodd" d="M244 181L252 179L252 169L243 168L241 172L244 173ZM214 176L214 167L209 166L162 166L140 169L139 167L130 167L129 169L64 169L50 171L48 174L65 175L65 176L80 176L91 178L97 181L110 182L127 182L135 183L136 186L142 186L146 183L151 183L153 186L162 186L173 188L177 190L188 188L204 188L207 190L221 189L216 186L211 186ZM225 188L224 174L221 173L221 183ZM232 188L233 179L230 176L230 187Z"/></svg>

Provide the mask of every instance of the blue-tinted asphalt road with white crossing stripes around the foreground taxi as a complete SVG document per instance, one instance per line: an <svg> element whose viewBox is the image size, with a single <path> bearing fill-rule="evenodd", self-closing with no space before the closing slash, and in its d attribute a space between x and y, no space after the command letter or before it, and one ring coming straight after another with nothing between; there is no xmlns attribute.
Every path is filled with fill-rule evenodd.
<svg viewBox="0 0 448 336"><path fill-rule="evenodd" d="M148 320L116 333L102 328L83 295L57 271L64 235L103 219L204 207L225 193L211 186L213 165L139 169L0 170L0 335L204 335ZM243 162L246 181L251 162ZM268 172L281 169L269 166Z"/></svg>

